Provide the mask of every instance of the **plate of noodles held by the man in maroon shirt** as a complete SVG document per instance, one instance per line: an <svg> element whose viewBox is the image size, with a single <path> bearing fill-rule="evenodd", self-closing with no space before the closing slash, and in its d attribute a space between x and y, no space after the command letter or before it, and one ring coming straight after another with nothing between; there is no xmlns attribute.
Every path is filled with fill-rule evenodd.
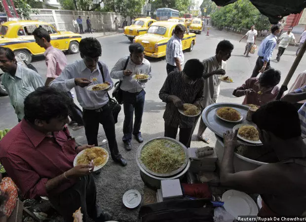
<svg viewBox="0 0 306 222"><path fill-rule="evenodd" d="M107 163L109 160L109 153L102 147L84 149L76 155L74 166L80 164L90 164L91 160L93 160L93 165L95 165L93 171L97 171Z"/></svg>

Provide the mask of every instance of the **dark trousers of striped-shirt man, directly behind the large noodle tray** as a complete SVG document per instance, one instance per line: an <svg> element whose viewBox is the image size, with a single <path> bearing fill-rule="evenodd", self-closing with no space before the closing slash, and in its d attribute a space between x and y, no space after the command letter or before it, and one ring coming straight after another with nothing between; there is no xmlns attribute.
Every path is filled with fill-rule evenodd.
<svg viewBox="0 0 306 222"><path fill-rule="evenodd" d="M170 137L176 139L178 133L178 126L170 126L165 123L165 137ZM184 144L187 148L190 148L191 136L192 136L193 127L191 128L180 128L179 141Z"/></svg>

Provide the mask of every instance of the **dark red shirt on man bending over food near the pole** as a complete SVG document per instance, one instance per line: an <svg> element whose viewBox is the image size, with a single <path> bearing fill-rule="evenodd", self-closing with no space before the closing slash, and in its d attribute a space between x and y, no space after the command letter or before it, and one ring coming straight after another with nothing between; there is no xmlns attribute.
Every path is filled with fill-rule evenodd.
<svg viewBox="0 0 306 222"><path fill-rule="evenodd" d="M258 92L260 91L260 88L259 88L258 78L249 78L245 81L245 83L242 86L236 88L232 94L234 96L237 96L236 95L237 90L246 90L246 89L254 89L256 93L253 93L251 95L245 95L244 100L242 102L243 105L254 104L257 106L263 106L275 100L279 92L278 86L274 86L272 89L263 92L263 94L259 95Z"/></svg>

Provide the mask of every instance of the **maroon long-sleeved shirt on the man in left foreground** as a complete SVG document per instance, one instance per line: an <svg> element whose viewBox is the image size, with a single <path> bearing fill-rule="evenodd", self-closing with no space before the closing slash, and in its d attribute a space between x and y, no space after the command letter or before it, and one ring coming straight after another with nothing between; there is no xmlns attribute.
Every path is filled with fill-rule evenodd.
<svg viewBox="0 0 306 222"><path fill-rule="evenodd" d="M27 198L49 196L46 182L73 168L75 157L76 143L67 128L46 136L25 119L0 141L0 162ZM67 180L54 193L74 184Z"/></svg>

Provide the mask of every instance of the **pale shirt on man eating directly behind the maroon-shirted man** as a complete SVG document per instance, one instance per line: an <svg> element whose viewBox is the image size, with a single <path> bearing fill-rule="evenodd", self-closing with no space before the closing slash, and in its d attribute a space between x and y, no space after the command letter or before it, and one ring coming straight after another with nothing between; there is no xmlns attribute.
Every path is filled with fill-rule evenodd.
<svg viewBox="0 0 306 222"><path fill-rule="evenodd" d="M112 88L114 83L111 79L109 69L105 63L101 61L100 63L102 64L105 81L111 83ZM62 74L50 82L50 86L66 92L70 91L72 88L75 88L77 101L81 107L86 110L96 110L108 103L109 98L106 91L88 91L86 89L87 86L77 86L75 83L75 78L87 78L88 80L97 78L97 81L90 84L103 83L103 78L99 70L98 63L96 69L91 72L90 69L86 67L83 60L78 60L73 64L67 65L62 71Z"/></svg>

